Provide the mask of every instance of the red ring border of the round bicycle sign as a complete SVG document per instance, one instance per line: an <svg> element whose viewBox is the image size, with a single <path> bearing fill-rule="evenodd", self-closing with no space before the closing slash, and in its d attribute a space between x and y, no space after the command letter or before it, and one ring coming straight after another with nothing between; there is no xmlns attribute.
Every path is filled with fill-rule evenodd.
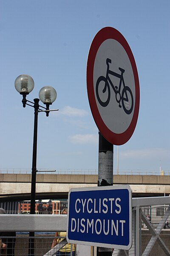
<svg viewBox="0 0 170 256"><path fill-rule="evenodd" d="M127 130L121 134L114 133L105 125L105 123L102 120L102 117L100 116L99 110L97 108L95 94L94 94L94 84L93 84L94 61L100 45L107 39L114 39L118 41L122 45L122 47L125 49L129 57L130 64L132 66L133 76L135 81L136 97L135 97L135 108L133 112L133 117ZM140 90L139 90L139 77L138 77L137 67L136 67L135 59L133 57L133 53L126 39L117 29L114 29L112 27L105 27L99 30L99 32L95 35L88 53L86 79L87 79L88 100L89 100L92 115L94 117L94 121L96 122L96 125L99 131L102 133L103 137L105 137L105 139L108 140L108 142L110 142L111 144L114 144L114 145L125 144L132 136L136 127L136 123L139 115Z"/></svg>

